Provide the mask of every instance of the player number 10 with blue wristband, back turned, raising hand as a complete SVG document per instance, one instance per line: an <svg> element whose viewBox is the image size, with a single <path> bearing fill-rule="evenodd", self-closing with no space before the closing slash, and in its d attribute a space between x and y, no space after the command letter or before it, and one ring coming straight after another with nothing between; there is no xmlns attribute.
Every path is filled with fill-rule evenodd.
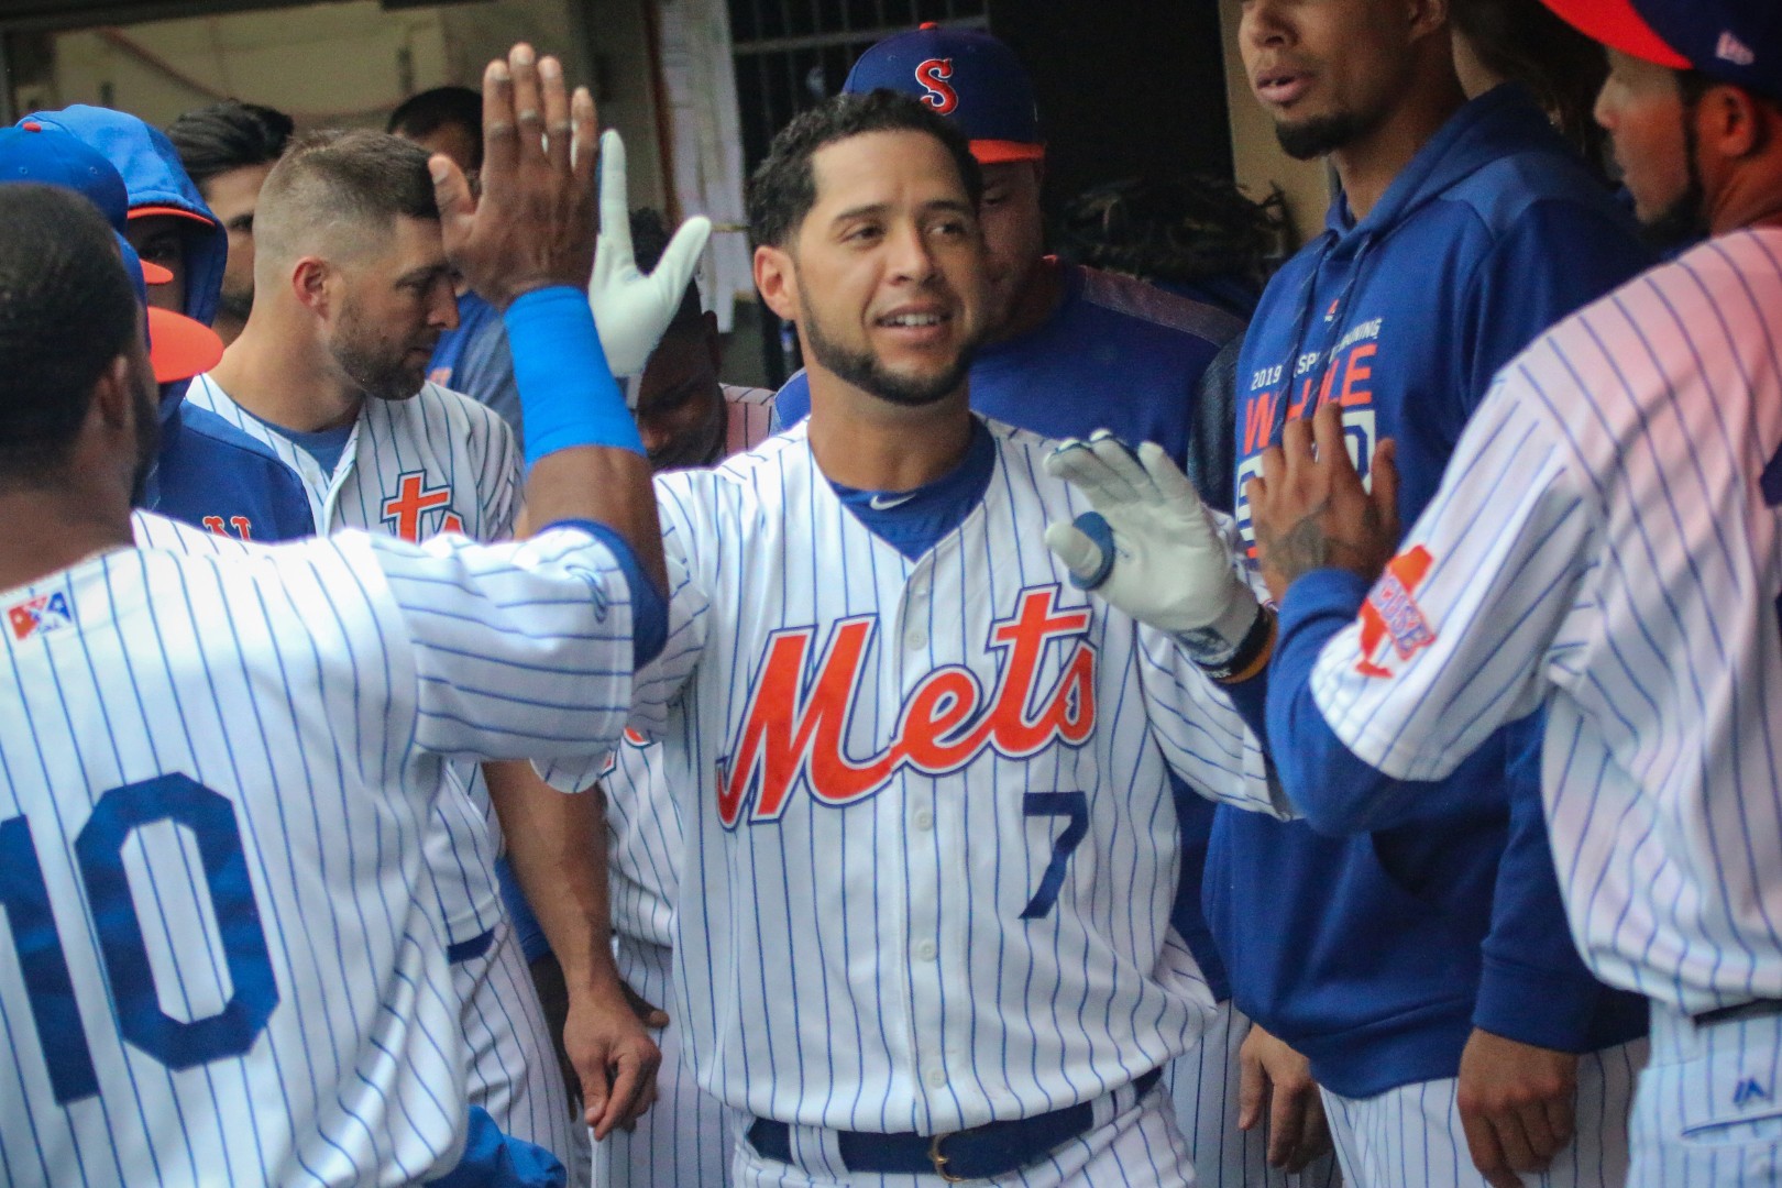
<svg viewBox="0 0 1782 1188"><path fill-rule="evenodd" d="M492 91L567 130L560 73L540 102L529 64ZM552 527L524 547L132 549L157 427L137 301L78 198L0 189L9 1183L412 1183L472 1154L490 1163L449 1183L552 1183L465 1115L421 835L438 752L617 736L663 575L581 292L592 100L579 167L567 135L545 157L503 109L513 167L476 216L447 175L446 207L454 256L556 379L535 408L560 449L531 488Z"/></svg>

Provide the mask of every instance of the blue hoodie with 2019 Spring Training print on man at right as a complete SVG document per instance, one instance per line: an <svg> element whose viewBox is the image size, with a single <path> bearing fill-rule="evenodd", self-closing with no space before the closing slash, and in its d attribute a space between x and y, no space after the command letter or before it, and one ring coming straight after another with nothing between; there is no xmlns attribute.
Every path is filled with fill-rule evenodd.
<svg viewBox="0 0 1782 1188"><path fill-rule="evenodd" d="M1269 283L1238 369L1246 534L1242 488L1262 451L1287 417L1333 399L1363 468L1397 438L1399 513L1415 522L1497 369L1647 264L1625 212L1525 93L1468 103L1365 219L1338 199ZM1645 1005L1595 981L1572 948L1540 737L1538 718L1508 727L1427 789L1420 819L1372 834L1219 810L1203 898L1233 1001L1333 1092L1452 1078L1474 1028L1572 1053L1643 1031ZM1292 737L1269 746L1296 753Z"/></svg>

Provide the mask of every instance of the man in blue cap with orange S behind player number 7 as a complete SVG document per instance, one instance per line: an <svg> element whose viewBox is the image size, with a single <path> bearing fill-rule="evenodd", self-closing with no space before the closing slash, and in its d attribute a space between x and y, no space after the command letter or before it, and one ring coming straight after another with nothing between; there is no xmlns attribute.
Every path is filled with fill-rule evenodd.
<svg viewBox="0 0 1782 1188"><path fill-rule="evenodd" d="M944 114L971 139L984 167L993 330L971 367L971 406L1042 436L1110 427L1130 442L1158 442L1190 474L1205 476L1210 502L1230 509L1230 381L1219 399L1203 385L1215 378L1210 365L1221 349L1237 346L1242 321L1214 305L1044 255L1039 196L1046 146L1034 84L996 37L937 25L887 37L861 55L843 84L850 94L877 87L912 94ZM775 417L795 424L809 404L804 374L793 376L775 397ZM1215 413L1210 420L1203 419L1208 411ZM1269 1167L1263 1131L1238 1127L1238 1044L1249 1024L1231 1005L1224 964L1201 915L1214 807L1180 784L1178 793L1183 876L1173 923L1214 987L1219 1017L1167 1074L1176 1119L1196 1172L1208 1183L1281 1184L1287 1181ZM1287 1161L1287 1127L1274 1129L1283 1131L1274 1136L1276 1156ZM1324 1184L1331 1174L1331 1161L1322 1160L1304 1183Z"/></svg>

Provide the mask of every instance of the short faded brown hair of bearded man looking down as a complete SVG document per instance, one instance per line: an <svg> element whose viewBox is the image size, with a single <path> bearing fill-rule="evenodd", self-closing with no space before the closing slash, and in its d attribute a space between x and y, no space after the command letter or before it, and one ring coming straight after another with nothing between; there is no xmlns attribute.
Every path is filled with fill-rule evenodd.
<svg viewBox="0 0 1782 1188"><path fill-rule="evenodd" d="M424 148L387 132L312 132L267 175L253 235L269 256L301 255L319 228L385 226L397 216L440 217Z"/></svg>

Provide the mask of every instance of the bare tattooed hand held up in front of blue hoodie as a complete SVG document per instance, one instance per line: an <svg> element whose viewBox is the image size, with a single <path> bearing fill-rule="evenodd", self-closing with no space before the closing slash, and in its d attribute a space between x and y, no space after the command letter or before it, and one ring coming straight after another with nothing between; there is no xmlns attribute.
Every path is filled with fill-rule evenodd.
<svg viewBox="0 0 1782 1188"><path fill-rule="evenodd" d="M1313 451L1313 447L1317 447ZM1281 443L1262 454L1262 477L1246 486L1256 561L1276 602L1312 570L1340 568L1379 577L1399 547L1395 445L1374 447L1372 492L1361 483L1342 429L1342 403L1306 420L1288 420Z"/></svg>

